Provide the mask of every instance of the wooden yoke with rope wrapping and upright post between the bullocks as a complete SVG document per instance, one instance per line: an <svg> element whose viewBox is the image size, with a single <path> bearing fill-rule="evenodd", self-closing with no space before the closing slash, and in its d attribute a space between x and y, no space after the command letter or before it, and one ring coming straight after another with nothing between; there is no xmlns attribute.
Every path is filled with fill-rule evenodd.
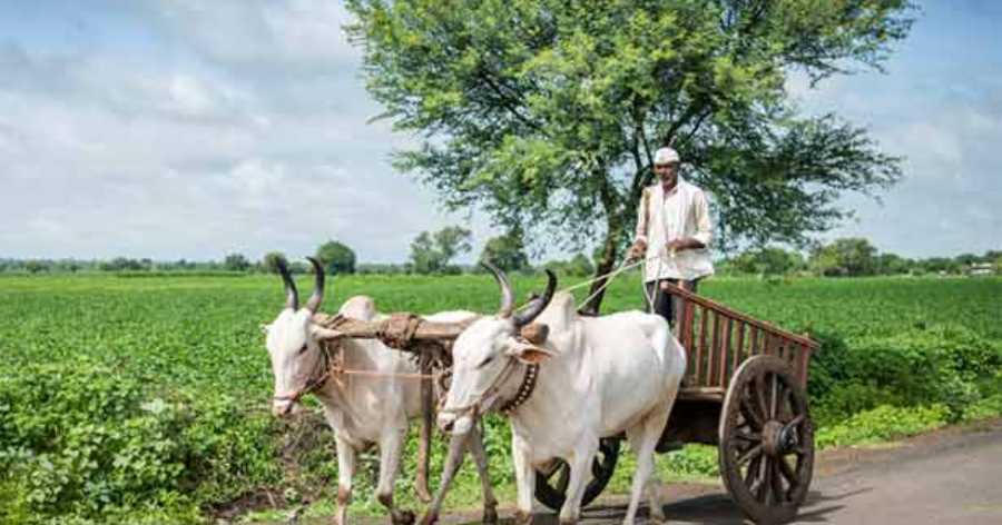
<svg viewBox="0 0 1002 525"><path fill-rule="evenodd" d="M324 328L355 339L380 339L384 345L414 354L421 379L421 440L418 443L418 498L431 501L428 488L431 436L434 425L434 385L428 377L434 368L452 367L452 341L470 326L470 323L433 323L411 313L394 313L386 319L366 321L341 315L314 314L313 321ZM439 385L444 392L445 385Z"/></svg>

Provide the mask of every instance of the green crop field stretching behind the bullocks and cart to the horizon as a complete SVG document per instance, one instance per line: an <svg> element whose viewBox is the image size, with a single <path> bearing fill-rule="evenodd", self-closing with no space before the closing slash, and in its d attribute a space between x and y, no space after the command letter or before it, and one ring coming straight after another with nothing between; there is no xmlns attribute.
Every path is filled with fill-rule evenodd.
<svg viewBox="0 0 1002 525"><path fill-rule="evenodd" d="M299 279L302 294L311 280ZM543 284L513 280L519 297ZM638 281L621 276L603 310L642 307ZM822 341L809 387L819 446L1002 413L1002 278L716 278L700 293ZM493 313L499 297L489 276L354 276L330 284L323 309L357 294L415 313ZM313 432L316 418L284 424L267 412L259 326L283 303L275 276L0 278L0 522L199 523L336 491L330 433ZM504 422L488 432L492 475L510 501ZM659 468L711 477L716 460L690 447ZM353 512L377 512L373 469L363 462ZM413 502L404 469L402 496ZM471 470L450 505L478 502Z"/></svg>

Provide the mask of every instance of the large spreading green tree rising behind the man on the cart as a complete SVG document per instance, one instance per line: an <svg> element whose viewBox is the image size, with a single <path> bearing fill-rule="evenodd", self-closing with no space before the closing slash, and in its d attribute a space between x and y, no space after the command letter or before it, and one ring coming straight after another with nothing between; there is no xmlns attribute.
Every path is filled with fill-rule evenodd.
<svg viewBox="0 0 1002 525"><path fill-rule="evenodd" d="M537 245L601 238L597 274L629 241L668 142L711 192L718 241L803 244L846 216L841 192L900 176L865 130L799 115L787 82L880 68L908 32L907 0L347 6L383 117L424 139L397 166Z"/></svg>

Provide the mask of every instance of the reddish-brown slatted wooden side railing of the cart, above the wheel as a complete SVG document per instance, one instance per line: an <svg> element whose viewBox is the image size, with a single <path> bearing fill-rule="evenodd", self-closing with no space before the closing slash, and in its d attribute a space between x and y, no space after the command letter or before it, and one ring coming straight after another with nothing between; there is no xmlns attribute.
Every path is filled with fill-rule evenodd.
<svg viewBox="0 0 1002 525"><path fill-rule="evenodd" d="M676 337L688 353L682 390L689 397L720 396L748 357L774 355L790 364L800 386L807 386L807 364L818 344L730 309L671 284L666 290L681 299Z"/></svg>

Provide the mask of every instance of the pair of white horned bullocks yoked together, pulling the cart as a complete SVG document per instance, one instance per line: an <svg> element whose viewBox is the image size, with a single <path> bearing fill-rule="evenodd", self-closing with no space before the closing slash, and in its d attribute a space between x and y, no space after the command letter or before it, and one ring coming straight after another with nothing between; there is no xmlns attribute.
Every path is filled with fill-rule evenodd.
<svg viewBox="0 0 1002 525"><path fill-rule="evenodd" d="M305 308L298 308L295 285L279 267L286 288L286 307L267 326L267 349L275 374L273 410L285 415L307 392L316 395L337 444L338 511L336 523L346 522L356 454L372 444L380 447L379 501L394 524L413 521L413 514L393 504L393 485L407 430L407 420L420 415L419 382L389 377L326 377L325 340L341 339L344 367L392 376L413 374L416 365L403 353L375 339L351 339L314 323L324 290L322 266L311 259L316 285ZM589 481L599 439L626 434L637 455L637 470L625 524L632 524L645 488L649 488L651 517L665 518L658 502L654 470L655 446L675 402L686 369L686 355L671 335L668 323L651 314L629 311L602 317L580 317L573 297L556 294L556 277L548 271L541 297L525 311L514 311L514 295L508 278L491 267L501 287L497 315L446 311L426 316L436 323L455 323L465 329L452 346L452 380L439 426L452 436L445 472L424 523L439 515L451 476L469 449L481 476L484 522L497 521L497 501L487 476L482 436L475 420L519 397L528 367L537 368L532 395L509 410L512 457L518 484L520 523L531 522L536 469L554 459L570 466L561 523L574 523ZM340 314L362 320L379 318L371 298L352 297ZM522 337L522 328L536 323L542 337ZM419 481L421 485L421 481Z"/></svg>

